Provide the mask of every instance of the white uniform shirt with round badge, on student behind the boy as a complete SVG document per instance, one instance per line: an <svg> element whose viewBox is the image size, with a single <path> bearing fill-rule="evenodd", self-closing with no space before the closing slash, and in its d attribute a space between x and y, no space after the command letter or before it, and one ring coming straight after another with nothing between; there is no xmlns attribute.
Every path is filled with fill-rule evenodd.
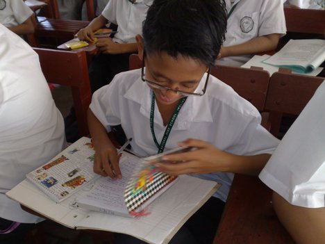
<svg viewBox="0 0 325 244"><path fill-rule="evenodd" d="M231 15L227 20L224 47L242 44L272 33L284 35L287 31L281 0L236 0L233 3L226 0L226 9ZM225 57L218 59L217 64L241 66L252 56L253 54Z"/></svg>

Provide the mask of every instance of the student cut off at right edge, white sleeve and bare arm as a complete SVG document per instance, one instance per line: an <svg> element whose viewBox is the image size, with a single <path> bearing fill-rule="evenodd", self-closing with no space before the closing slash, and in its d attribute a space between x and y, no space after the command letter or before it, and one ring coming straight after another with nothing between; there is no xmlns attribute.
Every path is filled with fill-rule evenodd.
<svg viewBox="0 0 325 244"><path fill-rule="evenodd" d="M325 241L325 82L285 134L260 179L297 243Z"/></svg>

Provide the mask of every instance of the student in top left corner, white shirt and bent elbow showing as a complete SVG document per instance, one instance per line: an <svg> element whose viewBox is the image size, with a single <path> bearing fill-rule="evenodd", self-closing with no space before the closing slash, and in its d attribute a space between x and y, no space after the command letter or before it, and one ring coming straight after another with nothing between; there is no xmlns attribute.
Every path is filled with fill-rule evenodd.
<svg viewBox="0 0 325 244"><path fill-rule="evenodd" d="M0 24L17 35L34 33L33 11L22 0L0 1Z"/></svg>

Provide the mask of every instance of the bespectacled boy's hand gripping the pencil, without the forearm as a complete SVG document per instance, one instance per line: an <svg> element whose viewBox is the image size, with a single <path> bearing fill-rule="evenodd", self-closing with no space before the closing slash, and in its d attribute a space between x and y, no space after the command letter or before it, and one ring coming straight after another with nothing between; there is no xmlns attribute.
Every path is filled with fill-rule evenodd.
<svg viewBox="0 0 325 244"><path fill-rule="evenodd" d="M119 155L117 150L109 144L102 143L96 147L94 156L94 172L104 177L121 179L122 173L119 169Z"/></svg>

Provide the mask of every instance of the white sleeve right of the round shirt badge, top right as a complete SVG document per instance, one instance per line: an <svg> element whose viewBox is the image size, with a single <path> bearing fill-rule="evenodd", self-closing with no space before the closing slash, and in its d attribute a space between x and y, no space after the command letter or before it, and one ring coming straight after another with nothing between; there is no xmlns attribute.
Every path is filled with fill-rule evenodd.
<svg viewBox="0 0 325 244"><path fill-rule="evenodd" d="M285 35L287 28L282 0L263 0L258 27L258 36L272 33Z"/></svg>

